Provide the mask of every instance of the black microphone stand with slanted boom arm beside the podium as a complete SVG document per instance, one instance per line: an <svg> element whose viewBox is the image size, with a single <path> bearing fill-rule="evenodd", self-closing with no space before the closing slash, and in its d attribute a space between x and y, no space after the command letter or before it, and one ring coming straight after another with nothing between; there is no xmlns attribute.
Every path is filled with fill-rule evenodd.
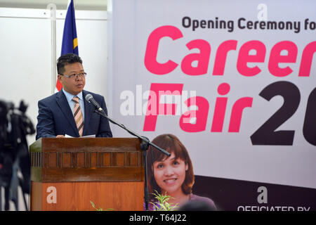
<svg viewBox="0 0 316 225"><path fill-rule="evenodd" d="M143 151L143 157L145 160L145 164L144 164L144 169L145 169L145 210L148 211L148 200L149 200L149 193L148 193L148 184L147 184L147 150L149 148L149 146L153 146L154 148L157 148L158 150L160 150L162 153L166 154L168 157L171 155L170 153L168 153L166 150L160 148L159 146L156 146L154 143L150 142L149 139L147 139L147 137L145 136L140 136L139 134L137 134L135 131L132 131L131 129L128 129L127 127L124 126L124 124L120 124L119 122L113 120L111 117L108 117L104 110L95 110L95 113L98 113L98 115L101 115L105 118L107 118L107 120L109 120L110 122L112 122L112 124L116 124L117 126L125 129L127 132L129 132L129 134L138 137L138 139L140 139L142 142L140 143L140 149Z"/></svg>

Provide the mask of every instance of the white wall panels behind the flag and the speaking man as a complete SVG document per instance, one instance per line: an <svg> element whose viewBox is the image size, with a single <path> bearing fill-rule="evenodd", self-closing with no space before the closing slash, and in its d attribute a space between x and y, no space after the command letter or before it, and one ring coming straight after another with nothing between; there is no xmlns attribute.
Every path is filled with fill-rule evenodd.
<svg viewBox="0 0 316 225"><path fill-rule="evenodd" d="M60 56L65 10L56 11L56 61ZM76 11L79 56L87 72L86 87L105 96L107 71L107 12ZM37 102L52 94L51 17L47 9L0 8L0 99L29 105L27 115L37 124ZM35 135L28 136L28 143ZM20 200L22 204L22 200ZM21 207L20 210L23 210Z"/></svg>

